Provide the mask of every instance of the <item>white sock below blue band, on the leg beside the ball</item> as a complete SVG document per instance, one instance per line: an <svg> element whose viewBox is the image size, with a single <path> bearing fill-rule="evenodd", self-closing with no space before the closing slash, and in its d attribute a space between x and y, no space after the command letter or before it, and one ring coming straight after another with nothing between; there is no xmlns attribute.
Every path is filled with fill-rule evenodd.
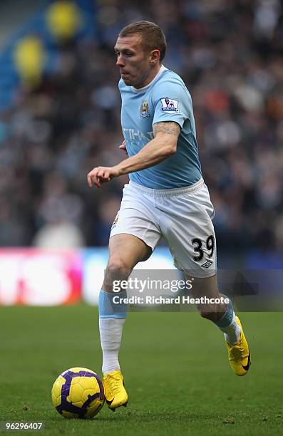
<svg viewBox="0 0 283 436"><path fill-rule="evenodd" d="M124 318L99 318L99 331L101 333L101 348L103 353L103 374L120 370L118 353L124 323Z"/></svg>

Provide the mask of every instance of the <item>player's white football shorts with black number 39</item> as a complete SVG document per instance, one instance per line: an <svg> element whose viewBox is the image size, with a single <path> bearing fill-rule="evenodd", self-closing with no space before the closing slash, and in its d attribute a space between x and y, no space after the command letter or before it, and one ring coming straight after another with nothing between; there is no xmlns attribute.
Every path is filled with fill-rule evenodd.
<svg viewBox="0 0 283 436"><path fill-rule="evenodd" d="M133 234L152 250L163 237L177 269L195 277L216 273L214 209L203 179L189 187L153 190L130 181L110 237Z"/></svg>

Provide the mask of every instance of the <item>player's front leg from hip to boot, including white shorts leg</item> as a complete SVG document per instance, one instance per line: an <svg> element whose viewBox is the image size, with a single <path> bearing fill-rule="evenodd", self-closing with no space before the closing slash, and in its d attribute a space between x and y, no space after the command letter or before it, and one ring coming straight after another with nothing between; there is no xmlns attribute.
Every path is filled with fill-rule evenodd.
<svg viewBox="0 0 283 436"><path fill-rule="evenodd" d="M106 401L112 410L125 405L128 400L118 362L128 306L123 303L125 291L113 293L113 281L117 285L121 280L127 280L135 264L148 259L159 239L160 229L155 223L150 199L146 199L135 184L125 185L120 211L110 233L109 261L99 296L103 384L106 388ZM117 296L118 304L113 301Z"/></svg>

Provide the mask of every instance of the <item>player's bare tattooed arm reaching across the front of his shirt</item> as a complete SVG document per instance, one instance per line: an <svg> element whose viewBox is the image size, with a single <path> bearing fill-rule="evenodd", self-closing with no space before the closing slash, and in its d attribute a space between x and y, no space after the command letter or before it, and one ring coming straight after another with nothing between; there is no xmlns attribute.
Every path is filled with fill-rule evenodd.
<svg viewBox="0 0 283 436"><path fill-rule="evenodd" d="M175 121L163 121L153 125L153 140L136 155L128 157L114 167L96 167L88 173L88 185L101 187L113 177L153 167L173 155L177 150L180 125Z"/></svg>

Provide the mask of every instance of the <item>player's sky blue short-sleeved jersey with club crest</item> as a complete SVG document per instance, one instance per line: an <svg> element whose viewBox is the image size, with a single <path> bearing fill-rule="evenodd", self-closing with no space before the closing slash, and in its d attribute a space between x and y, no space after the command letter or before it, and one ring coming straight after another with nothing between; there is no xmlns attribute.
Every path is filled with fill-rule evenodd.
<svg viewBox="0 0 283 436"><path fill-rule="evenodd" d="M144 88L127 86L120 79L119 90L121 125L129 157L153 139L155 123L174 121L181 128L175 154L158 165L130 173L130 180L155 190L190 186L200 180L192 98L180 76L162 66Z"/></svg>

